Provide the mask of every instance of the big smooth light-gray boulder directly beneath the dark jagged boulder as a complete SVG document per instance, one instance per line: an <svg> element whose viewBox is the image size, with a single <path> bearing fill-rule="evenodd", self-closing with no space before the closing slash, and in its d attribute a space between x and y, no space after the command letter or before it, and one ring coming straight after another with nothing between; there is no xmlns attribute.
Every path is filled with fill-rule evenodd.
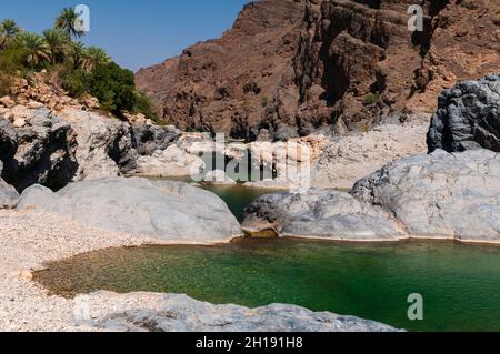
<svg viewBox="0 0 500 354"><path fill-rule="evenodd" d="M500 242L500 155L489 150L396 161L352 194L391 213L411 236Z"/></svg>

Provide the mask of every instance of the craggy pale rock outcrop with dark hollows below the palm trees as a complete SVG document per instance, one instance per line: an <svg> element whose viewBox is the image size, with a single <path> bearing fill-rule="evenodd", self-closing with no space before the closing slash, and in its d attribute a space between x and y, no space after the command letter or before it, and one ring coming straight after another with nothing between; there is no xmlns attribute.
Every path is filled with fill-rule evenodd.
<svg viewBox="0 0 500 354"><path fill-rule="evenodd" d="M131 124L72 105L56 114L6 97L0 101L0 176L22 192L32 184L58 190L72 181L129 174L140 156L166 149L179 135L173 127Z"/></svg>

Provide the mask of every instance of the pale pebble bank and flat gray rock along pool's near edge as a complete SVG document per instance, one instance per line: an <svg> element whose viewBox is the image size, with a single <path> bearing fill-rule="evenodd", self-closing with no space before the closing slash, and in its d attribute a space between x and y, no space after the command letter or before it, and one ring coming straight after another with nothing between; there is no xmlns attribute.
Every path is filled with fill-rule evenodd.
<svg viewBox="0 0 500 354"><path fill-rule="evenodd" d="M0 210L0 220L1 331L396 331L372 321L292 305L251 310L152 293L53 296L31 281L31 271L43 269L46 262L158 240L109 233L67 218L30 212ZM221 327L221 323L226 325Z"/></svg>

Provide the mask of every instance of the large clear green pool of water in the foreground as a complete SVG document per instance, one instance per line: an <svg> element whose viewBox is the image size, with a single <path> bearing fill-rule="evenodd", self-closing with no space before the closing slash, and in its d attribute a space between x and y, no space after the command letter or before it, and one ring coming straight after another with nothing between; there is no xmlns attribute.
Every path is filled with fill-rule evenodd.
<svg viewBox="0 0 500 354"><path fill-rule="evenodd" d="M63 296L184 293L251 307L291 303L411 331L500 331L497 246L290 240L146 246L79 255L49 264L34 279ZM412 293L423 296L423 321L408 320Z"/></svg>

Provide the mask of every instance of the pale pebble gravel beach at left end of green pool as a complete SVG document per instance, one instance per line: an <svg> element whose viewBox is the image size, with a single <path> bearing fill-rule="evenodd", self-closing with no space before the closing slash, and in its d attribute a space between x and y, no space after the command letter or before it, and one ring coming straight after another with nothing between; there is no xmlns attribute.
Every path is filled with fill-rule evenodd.
<svg viewBox="0 0 500 354"><path fill-rule="evenodd" d="M89 331L72 321L72 300L50 296L31 282L43 263L98 249L148 243L52 215L0 210L0 331Z"/></svg>

